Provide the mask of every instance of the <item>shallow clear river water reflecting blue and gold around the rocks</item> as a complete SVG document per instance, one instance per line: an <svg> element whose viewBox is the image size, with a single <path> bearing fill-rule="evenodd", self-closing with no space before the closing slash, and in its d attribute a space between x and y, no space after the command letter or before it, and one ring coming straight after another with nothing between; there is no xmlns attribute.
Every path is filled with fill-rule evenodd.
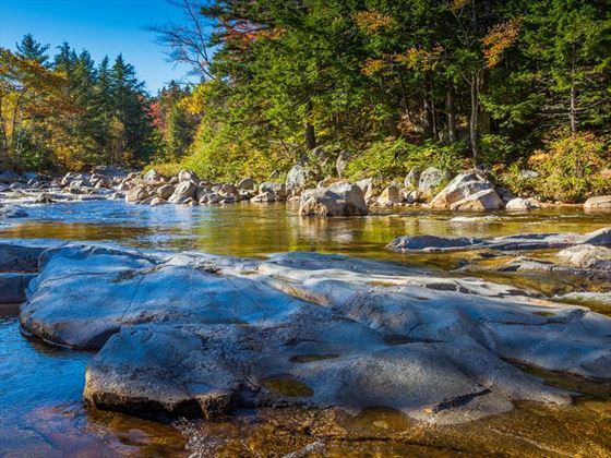
<svg viewBox="0 0 611 458"><path fill-rule="evenodd" d="M455 272L469 254L400 255L384 250L395 237L492 237L526 232L586 232L611 224L609 214L575 207L529 214L456 215L406 209L361 218L300 218L290 205L148 207L92 201L25 207L28 218L0 226L0 238L109 241L131 246L200 250L261 257L284 251L320 251ZM540 257L553 253L537 253ZM468 260L471 261L471 260ZM486 274L544 296L607 285L578 279ZM596 309L596 305L592 305ZM596 309L609 314L609 310ZM303 412L237 412L214 422L159 424L82 405L84 371L93 354L53 348L20 333L16 306L0 305L0 456L453 456L519 453L546 456L611 455L611 391L558 374L548 383L585 396L551 409L524 403L514 412L459 426L426 429L396 412L374 409L354 418L318 419L292 427ZM321 427L320 425L328 427ZM340 433L330 433L339 427Z"/></svg>

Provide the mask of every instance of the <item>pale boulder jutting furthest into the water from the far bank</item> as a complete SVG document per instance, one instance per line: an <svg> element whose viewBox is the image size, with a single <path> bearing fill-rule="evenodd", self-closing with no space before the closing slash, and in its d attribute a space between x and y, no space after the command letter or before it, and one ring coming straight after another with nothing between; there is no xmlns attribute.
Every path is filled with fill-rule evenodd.
<svg viewBox="0 0 611 458"><path fill-rule="evenodd" d="M368 215L364 195L359 186L336 183L330 188L304 191L299 202L302 216L359 216Z"/></svg>

